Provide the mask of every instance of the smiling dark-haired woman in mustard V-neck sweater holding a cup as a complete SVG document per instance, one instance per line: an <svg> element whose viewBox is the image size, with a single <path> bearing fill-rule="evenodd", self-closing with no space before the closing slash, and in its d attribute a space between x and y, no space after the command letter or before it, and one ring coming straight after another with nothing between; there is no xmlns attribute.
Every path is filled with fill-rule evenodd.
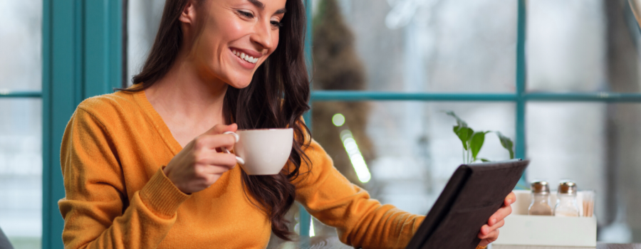
<svg viewBox="0 0 641 249"><path fill-rule="evenodd" d="M402 248L424 216L370 199L301 122L309 109L301 0L167 0L132 88L83 101L63 137L66 248L264 248L294 200L343 243ZM248 176L236 129L292 127L288 164ZM479 231L498 236L506 206Z"/></svg>

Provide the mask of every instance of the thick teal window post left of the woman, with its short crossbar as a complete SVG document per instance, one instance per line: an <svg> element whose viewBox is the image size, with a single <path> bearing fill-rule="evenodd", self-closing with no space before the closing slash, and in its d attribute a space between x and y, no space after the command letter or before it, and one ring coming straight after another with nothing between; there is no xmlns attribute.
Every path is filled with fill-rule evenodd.
<svg viewBox="0 0 641 249"><path fill-rule="evenodd" d="M87 97L120 88L123 79L122 0L43 0L42 90L3 91L4 98L42 99L42 248L64 248L58 200L63 132Z"/></svg>

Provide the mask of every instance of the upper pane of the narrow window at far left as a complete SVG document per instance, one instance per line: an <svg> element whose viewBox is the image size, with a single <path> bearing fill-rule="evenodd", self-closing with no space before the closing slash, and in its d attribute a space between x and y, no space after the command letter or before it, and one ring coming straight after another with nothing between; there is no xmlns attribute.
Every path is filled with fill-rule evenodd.
<svg viewBox="0 0 641 249"><path fill-rule="evenodd" d="M0 1L0 92L41 90L42 0Z"/></svg>

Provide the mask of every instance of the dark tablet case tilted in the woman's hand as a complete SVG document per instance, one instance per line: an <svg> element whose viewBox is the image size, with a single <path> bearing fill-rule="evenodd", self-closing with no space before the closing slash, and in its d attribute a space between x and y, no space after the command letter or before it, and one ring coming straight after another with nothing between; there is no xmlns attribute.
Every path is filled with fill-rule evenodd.
<svg viewBox="0 0 641 249"><path fill-rule="evenodd" d="M407 249L476 248L481 226L501 208L529 162L514 159L459 166Z"/></svg>

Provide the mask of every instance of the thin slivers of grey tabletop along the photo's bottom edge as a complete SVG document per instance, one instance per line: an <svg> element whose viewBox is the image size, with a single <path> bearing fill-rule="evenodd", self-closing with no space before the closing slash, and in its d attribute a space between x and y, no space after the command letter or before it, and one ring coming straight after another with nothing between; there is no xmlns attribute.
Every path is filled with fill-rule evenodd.
<svg viewBox="0 0 641 249"><path fill-rule="evenodd" d="M336 236L317 236L310 238L309 247L301 246L300 243L282 243L278 249L348 249L352 248L341 243ZM540 248L540 247L537 247ZM598 243L597 249L641 249L641 244L613 244Z"/></svg>

